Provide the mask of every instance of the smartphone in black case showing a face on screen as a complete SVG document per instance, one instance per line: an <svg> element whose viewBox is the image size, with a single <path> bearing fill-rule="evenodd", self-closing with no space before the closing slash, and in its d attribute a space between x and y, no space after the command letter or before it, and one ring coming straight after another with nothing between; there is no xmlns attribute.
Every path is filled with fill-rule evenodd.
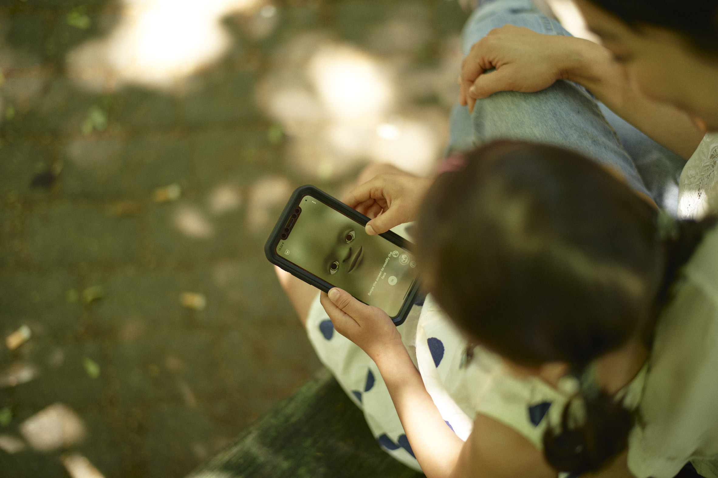
<svg viewBox="0 0 718 478"><path fill-rule="evenodd" d="M319 188L301 186L286 204L264 253L304 282L324 292L346 290L400 325L414 305L416 259L411 244L398 234L367 234L368 221Z"/></svg>

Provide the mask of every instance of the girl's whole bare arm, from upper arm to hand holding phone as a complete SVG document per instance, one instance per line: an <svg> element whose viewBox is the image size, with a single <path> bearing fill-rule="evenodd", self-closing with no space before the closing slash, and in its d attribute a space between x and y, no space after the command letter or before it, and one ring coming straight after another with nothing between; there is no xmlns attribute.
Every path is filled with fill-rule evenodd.
<svg viewBox="0 0 718 478"><path fill-rule="evenodd" d="M337 332L376 363L426 477L556 477L531 442L486 416L477 417L464 443L439 414L388 315L343 290L330 294L322 292L322 305Z"/></svg>

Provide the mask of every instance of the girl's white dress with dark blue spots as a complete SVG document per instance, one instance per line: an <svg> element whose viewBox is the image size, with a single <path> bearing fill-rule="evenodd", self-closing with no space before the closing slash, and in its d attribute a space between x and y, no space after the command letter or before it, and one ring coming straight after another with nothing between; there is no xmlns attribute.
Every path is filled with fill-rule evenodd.
<svg viewBox="0 0 718 478"><path fill-rule="evenodd" d="M480 346L471 349L469 358L468 341L431 295L423 307L414 306L398 330L426 391L457 436L466 440L476 414L483 414L518 431L538 449L543 448L546 426L561 420L567 402L564 393L538 378L516 378L497 355ZM309 309L307 333L322 363L362 409L378 443L398 461L420 471L376 364L334 330L318 295ZM619 392L627 408L638 406L646 370L644 366Z"/></svg>

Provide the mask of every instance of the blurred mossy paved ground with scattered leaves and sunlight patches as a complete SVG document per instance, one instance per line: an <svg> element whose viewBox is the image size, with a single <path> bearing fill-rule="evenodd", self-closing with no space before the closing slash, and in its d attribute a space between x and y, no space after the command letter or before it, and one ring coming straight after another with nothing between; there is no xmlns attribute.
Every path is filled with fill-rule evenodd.
<svg viewBox="0 0 718 478"><path fill-rule="evenodd" d="M465 18L0 0L0 333L30 335L0 343L0 476L67 477L72 452L107 478L182 477L297 389L319 363L264 240L303 183L429 171ZM64 431L27 422L55 403Z"/></svg>

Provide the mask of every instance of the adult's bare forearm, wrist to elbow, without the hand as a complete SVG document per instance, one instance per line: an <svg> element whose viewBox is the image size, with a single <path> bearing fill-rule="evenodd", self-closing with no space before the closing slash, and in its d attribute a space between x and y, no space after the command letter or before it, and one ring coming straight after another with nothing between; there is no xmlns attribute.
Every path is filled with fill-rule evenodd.
<svg viewBox="0 0 718 478"><path fill-rule="evenodd" d="M686 113L642 95L604 47L572 37L558 41L563 42L559 67L562 77L586 87L597 100L656 143L685 159L691 157L704 133Z"/></svg>

